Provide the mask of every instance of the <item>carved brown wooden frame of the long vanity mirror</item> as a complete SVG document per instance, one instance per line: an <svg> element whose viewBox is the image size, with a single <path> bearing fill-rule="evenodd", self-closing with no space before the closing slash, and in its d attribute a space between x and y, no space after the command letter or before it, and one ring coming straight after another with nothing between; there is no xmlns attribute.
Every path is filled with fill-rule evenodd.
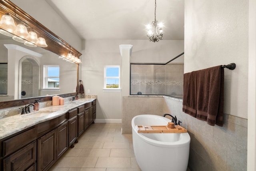
<svg viewBox="0 0 256 171"><path fill-rule="evenodd" d="M75 56L78 58L82 55L80 52L78 52L75 48L70 46L68 43L66 43L64 40L62 40L60 37L58 37L56 34L51 32L48 28L43 26L40 22L32 18L30 15L28 15L26 12L24 12L22 9L20 9L18 6L10 2L9 0L0 0L0 16L4 14L9 14L14 18L14 22L23 23L32 30L36 31L40 36L42 36L46 40L46 44L48 44L48 47L45 47L44 49L53 52L54 54L57 54L62 57L66 57L66 55L69 52L72 52ZM16 23L17 25L17 23ZM1 28L1 26L0 26ZM32 31L31 30L31 31ZM30 30L28 30L30 31ZM12 33L13 34L13 33ZM15 34L14 34L15 35ZM76 84L78 86L78 77L79 77L79 64L77 64L77 79ZM60 97L69 97L74 96L78 93L76 90L75 93L65 93L60 94ZM34 103L35 99L39 99L42 101L49 101L52 100L53 95L49 96L41 96L41 97L31 97L31 98L24 98L24 99L15 99L10 101L0 101L0 109L9 108L9 107L15 107L20 105L25 105L29 103Z"/></svg>

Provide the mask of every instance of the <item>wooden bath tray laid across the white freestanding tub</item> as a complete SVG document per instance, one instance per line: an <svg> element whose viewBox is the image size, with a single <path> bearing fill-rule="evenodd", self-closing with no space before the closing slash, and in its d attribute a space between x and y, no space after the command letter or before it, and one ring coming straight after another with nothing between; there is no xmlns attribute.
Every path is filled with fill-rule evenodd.
<svg viewBox="0 0 256 171"><path fill-rule="evenodd" d="M180 125L175 125L175 128L169 128L167 125L159 126L138 126L136 125L138 133L186 133L188 132L185 128Z"/></svg>

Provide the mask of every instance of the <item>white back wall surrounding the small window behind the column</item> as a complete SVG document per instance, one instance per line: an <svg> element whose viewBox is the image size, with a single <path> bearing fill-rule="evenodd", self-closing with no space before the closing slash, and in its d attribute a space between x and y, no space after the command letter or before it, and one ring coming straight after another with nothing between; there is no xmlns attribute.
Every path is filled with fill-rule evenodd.
<svg viewBox="0 0 256 171"><path fill-rule="evenodd" d="M97 95L97 119L122 119L122 92L102 90L104 65L122 66L121 44L132 45L130 62L165 63L184 52L184 41L161 40L153 43L148 40L86 40L85 50L82 51L81 79L86 95Z"/></svg>

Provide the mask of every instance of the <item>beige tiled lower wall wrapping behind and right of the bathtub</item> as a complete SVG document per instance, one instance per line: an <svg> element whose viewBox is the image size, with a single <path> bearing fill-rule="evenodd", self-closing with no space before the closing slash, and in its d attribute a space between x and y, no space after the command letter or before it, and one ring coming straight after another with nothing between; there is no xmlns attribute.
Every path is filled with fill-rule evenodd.
<svg viewBox="0 0 256 171"><path fill-rule="evenodd" d="M224 115L224 126L210 126L182 112L182 100L172 97L123 97L122 131L131 133L132 117L170 113L182 121L191 137L191 171L246 171L247 119ZM166 116L168 117L168 116Z"/></svg>

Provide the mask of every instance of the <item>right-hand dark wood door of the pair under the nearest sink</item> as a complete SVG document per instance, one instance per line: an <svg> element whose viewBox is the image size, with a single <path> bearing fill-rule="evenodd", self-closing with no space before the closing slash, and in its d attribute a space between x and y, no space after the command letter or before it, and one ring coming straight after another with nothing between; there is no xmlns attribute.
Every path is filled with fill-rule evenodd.
<svg viewBox="0 0 256 171"><path fill-rule="evenodd" d="M57 128L56 138L56 159L58 159L68 149L68 121Z"/></svg>

